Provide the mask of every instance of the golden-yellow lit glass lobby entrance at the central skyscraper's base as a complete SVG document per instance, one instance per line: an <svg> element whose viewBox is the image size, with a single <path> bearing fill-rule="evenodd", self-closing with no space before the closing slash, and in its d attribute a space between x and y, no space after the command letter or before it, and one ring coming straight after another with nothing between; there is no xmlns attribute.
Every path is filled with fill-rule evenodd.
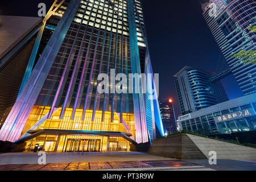
<svg viewBox="0 0 256 182"><path fill-rule="evenodd" d="M134 114L123 113L122 122L115 113L111 122L111 113L96 111L96 119L92 121L92 110L86 110L82 120L82 110L76 110L72 120L72 109L66 109L60 119L61 109L57 109L47 119L49 107L34 106L18 142L26 142L24 152L43 150L46 152L103 152L130 151L134 143Z"/></svg>

